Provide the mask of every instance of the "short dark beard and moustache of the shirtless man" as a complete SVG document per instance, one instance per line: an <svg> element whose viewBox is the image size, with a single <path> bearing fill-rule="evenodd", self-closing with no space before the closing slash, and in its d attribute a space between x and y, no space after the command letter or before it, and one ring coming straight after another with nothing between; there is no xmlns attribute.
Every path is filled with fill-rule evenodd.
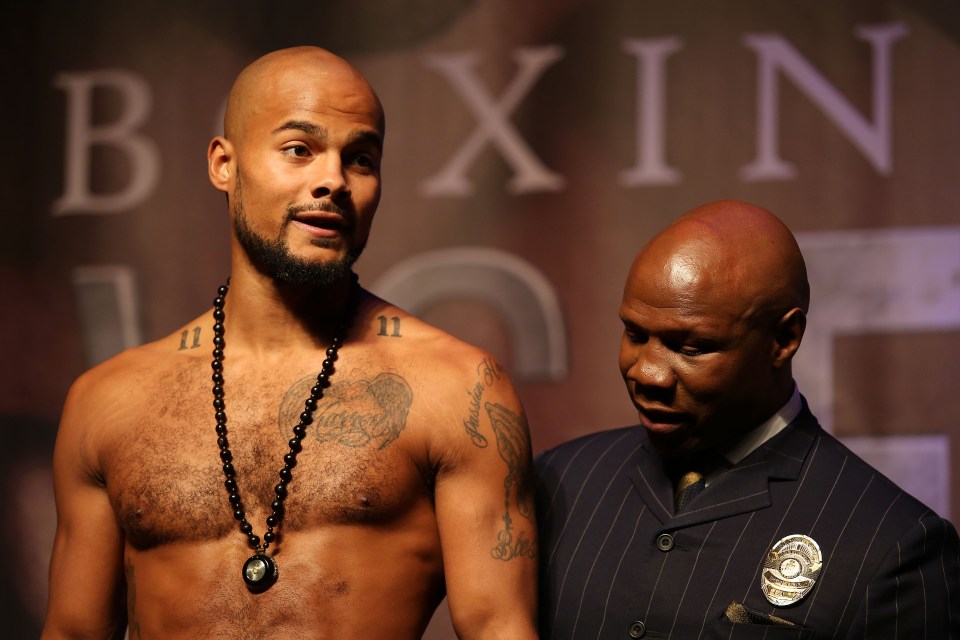
<svg viewBox="0 0 960 640"><path fill-rule="evenodd" d="M280 233L273 240L259 235L250 228L243 206L243 183L237 171L237 186L233 192L233 231L237 241L243 247L250 262L260 273L277 282L307 287L329 287L347 278L352 273L353 264L363 253L364 245L350 247L346 254L328 262L310 262L290 253L290 247L283 237L284 229L296 213L304 210L332 210L343 215L350 223L355 220L335 205L326 206L290 206ZM351 224L350 226L353 226ZM323 239L314 240L316 246L329 244Z"/></svg>

